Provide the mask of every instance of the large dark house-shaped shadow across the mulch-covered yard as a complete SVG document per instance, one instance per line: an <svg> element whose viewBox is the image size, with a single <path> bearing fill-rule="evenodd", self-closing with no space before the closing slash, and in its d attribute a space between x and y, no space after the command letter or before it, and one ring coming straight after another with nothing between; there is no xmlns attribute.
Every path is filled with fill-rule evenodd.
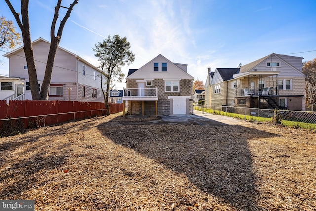
<svg viewBox="0 0 316 211"><path fill-rule="evenodd" d="M152 124L141 120L133 124L119 120L121 117L98 129L116 144L186 175L201 191L239 210L262 209L255 201L259 193L247 139L275 134L241 125Z"/></svg>

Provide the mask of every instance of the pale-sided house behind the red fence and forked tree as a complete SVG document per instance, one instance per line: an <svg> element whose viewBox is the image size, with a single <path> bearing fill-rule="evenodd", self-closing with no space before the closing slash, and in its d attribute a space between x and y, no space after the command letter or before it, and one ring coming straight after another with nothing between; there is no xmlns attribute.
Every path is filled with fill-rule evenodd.
<svg viewBox="0 0 316 211"><path fill-rule="evenodd" d="M50 42L39 38L32 42L32 48L40 89L44 79ZM20 97L20 99L32 100L23 46L4 56L9 59L9 75L11 77L6 79L8 81L1 80L0 100L14 99L18 96L23 97ZM58 47L48 100L103 102L100 75L101 72L98 68L78 55L62 47ZM7 85L4 88L5 90L2 89L3 84L4 86ZM12 86L8 87L10 84ZM2 92L7 93L3 94ZM12 97L3 97L10 94Z"/></svg>

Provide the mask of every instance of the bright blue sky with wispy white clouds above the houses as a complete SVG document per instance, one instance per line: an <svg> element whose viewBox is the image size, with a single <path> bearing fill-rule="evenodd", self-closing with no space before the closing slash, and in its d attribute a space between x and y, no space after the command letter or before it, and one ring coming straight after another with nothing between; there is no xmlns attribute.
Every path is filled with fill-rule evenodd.
<svg viewBox="0 0 316 211"><path fill-rule="evenodd" d="M18 11L20 1L11 1ZM30 0L32 40L50 40L55 4ZM129 68L140 68L162 54L188 64L188 73L205 83L208 67L237 67L271 53L303 61L316 58L315 11L316 0L79 0L60 46L98 66L94 45L109 34L126 36L136 54L135 61L123 67L126 76ZM3 1L0 15L15 23ZM7 75L8 59L1 60L0 75Z"/></svg>

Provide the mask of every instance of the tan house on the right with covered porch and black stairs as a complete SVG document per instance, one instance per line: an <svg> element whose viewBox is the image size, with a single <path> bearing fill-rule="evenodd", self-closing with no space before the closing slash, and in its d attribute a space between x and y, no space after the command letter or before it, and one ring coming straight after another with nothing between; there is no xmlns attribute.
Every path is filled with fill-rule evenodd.
<svg viewBox="0 0 316 211"><path fill-rule="evenodd" d="M305 110L302 59L272 53L241 68L216 68L205 101L211 106Z"/></svg>

